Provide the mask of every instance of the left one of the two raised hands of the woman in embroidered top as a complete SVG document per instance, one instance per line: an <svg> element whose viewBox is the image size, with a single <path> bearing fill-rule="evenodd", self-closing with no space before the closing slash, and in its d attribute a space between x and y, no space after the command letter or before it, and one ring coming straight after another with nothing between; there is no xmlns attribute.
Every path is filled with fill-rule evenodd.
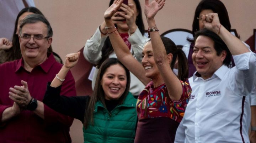
<svg viewBox="0 0 256 143"><path fill-rule="evenodd" d="M122 2L123 0L114 0L113 4L105 11L104 18L111 19L114 13L121 7Z"/></svg>

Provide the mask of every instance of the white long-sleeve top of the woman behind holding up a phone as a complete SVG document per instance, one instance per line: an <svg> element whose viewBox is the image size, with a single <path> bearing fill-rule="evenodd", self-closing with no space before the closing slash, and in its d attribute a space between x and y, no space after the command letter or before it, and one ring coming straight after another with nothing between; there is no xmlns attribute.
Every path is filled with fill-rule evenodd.
<svg viewBox="0 0 256 143"><path fill-rule="evenodd" d="M98 64L98 62L102 58L102 47L104 45L104 42L106 40L107 36L101 37L101 33L99 28L96 29L96 32L94 35L86 41L85 47L84 47L84 57L87 61L93 64ZM144 48L144 45L146 42L149 41L148 38L143 36L140 33L139 28L136 29L136 31L130 35L129 33L129 38L128 41L131 43L131 53L132 55L139 61L142 61L142 50ZM116 53L112 52L109 56L109 58L117 58ZM97 77L98 69L95 70L93 80L92 80L92 89L94 89L95 85L95 80ZM139 93L145 88L145 86L142 84L142 82L139 81L139 79L133 75L130 72L130 92L133 95L139 95Z"/></svg>

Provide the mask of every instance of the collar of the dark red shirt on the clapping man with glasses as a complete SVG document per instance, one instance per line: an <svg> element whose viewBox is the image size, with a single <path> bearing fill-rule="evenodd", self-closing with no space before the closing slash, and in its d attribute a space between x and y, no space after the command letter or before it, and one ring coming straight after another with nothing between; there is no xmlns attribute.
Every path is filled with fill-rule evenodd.
<svg viewBox="0 0 256 143"><path fill-rule="evenodd" d="M54 61L54 62L53 62L53 61ZM52 65L53 65L55 62L56 62L56 61L55 61L55 58L54 58L53 54L52 54L52 53L47 53L47 59L46 59L46 61L44 61L42 64L40 64L40 65L38 65L38 66L40 66L40 67L43 69L43 71L44 71L45 73L48 73L50 67L52 67ZM25 69L25 68L24 68L24 60L23 60L23 57L18 61L15 72L17 72L19 69L21 69L21 67L22 67L23 69Z"/></svg>

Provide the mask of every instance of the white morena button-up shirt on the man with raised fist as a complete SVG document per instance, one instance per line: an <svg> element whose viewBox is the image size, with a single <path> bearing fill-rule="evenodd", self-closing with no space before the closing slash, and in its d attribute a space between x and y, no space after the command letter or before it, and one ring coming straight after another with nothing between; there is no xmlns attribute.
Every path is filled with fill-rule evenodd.
<svg viewBox="0 0 256 143"><path fill-rule="evenodd" d="M209 79L196 74L189 79L192 93L176 143L249 142L256 58L251 52L233 58L236 67L222 65Z"/></svg>

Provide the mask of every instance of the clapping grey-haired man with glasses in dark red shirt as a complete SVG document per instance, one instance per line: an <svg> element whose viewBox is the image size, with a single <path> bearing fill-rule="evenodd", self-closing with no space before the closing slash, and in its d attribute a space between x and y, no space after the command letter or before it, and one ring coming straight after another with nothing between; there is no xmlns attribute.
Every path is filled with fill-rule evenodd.
<svg viewBox="0 0 256 143"><path fill-rule="evenodd" d="M0 142L71 142L73 118L44 105L47 82L58 77L62 65L47 49L52 28L45 17L27 16L20 24L22 58L0 65ZM74 96L75 81L69 71L61 95Z"/></svg>

